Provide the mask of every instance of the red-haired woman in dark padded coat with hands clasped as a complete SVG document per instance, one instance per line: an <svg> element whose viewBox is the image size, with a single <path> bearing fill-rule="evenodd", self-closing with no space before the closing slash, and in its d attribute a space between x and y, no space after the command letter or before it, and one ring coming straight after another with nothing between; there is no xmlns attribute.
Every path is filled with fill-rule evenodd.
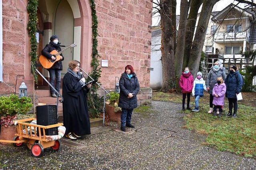
<svg viewBox="0 0 256 170"><path fill-rule="evenodd" d="M140 90L138 78L131 65L125 67L119 80L120 96L118 106L122 107L121 113L121 130L125 130L125 126L132 127L131 124L132 111L138 106L137 94Z"/></svg>

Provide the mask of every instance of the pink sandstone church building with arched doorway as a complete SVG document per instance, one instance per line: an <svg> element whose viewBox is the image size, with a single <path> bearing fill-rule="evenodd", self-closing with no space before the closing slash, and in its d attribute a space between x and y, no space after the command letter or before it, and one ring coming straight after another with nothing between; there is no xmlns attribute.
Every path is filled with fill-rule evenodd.
<svg viewBox="0 0 256 170"><path fill-rule="evenodd" d="M150 45L152 0L94 0L98 18L99 78L102 87L113 90L115 77L120 77L130 64L138 76L141 92L139 100L152 96L150 83ZM48 86L42 77L38 83L30 71L30 37L28 35L28 0L0 0L2 6L2 53L0 54L0 95L14 94L24 78L28 95ZM92 8L90 0L38 0L37 8L38 56L58 35L61 45L77 46L64 51L62 78L68 62L80 61L81 68L90 73L92 68ZM65 47L62 47L64 49ZM46 79L49 73L37 68ZM49 86L48 86L49 87ZM50 94L50 92L49 92Z"/></svg>

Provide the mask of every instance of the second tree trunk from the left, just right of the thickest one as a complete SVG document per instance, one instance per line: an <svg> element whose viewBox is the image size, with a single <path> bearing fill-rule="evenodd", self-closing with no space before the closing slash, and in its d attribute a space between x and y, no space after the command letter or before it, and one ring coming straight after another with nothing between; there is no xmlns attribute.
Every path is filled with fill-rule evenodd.
<svg viewBox="0 0 256 170"><path fill-rule="evenodd" d="M181 0L180 2L180 24L178 29L177 36L177 45L176 45L176 53L174 56L174 68L175 75L178 77L181 76L182 72L182 64L183 64L183 55L184 55L184 45L185 45L185 30L188 18L188 10L189 10L189 2L187 0Z"/></svg>

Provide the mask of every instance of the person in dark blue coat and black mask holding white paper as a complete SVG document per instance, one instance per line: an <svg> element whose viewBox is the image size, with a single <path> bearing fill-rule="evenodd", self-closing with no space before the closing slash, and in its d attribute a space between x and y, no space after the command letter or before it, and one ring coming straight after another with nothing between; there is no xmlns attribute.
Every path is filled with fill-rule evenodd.
<svg viewBox="0 0 256 170"><path fill-rule="evenodd" d="M226 116L236 117L236 112L238 108L236 95L239 94L242 90L243 79L242 79L242 75L239 73L236 66L230 66L229 70L230 72L225 80L225 84L227 87L226 97L228 98L228 108L229 108L228 114ZM233 106L234 106L234 113L232 114Z"/></svg>

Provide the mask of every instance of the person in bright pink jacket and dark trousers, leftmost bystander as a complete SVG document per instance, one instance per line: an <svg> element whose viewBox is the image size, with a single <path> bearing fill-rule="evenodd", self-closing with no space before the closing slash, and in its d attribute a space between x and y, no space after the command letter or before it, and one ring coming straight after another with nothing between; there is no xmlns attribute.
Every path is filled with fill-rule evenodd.
<svg viewBox="0 0 256 170"><path fill-rule="evenodd" d="M190 73L190 69L188 67L185 67L184 72L182 72L182 75L180 76L180 82L179 82L181 92L182 92L182 110L183 111L185 111L186 96L188 96L187 109L191 110L189 107L189 103L190 103L190 94L193 89L193 83L194 83L194 78Z"/></svg>

